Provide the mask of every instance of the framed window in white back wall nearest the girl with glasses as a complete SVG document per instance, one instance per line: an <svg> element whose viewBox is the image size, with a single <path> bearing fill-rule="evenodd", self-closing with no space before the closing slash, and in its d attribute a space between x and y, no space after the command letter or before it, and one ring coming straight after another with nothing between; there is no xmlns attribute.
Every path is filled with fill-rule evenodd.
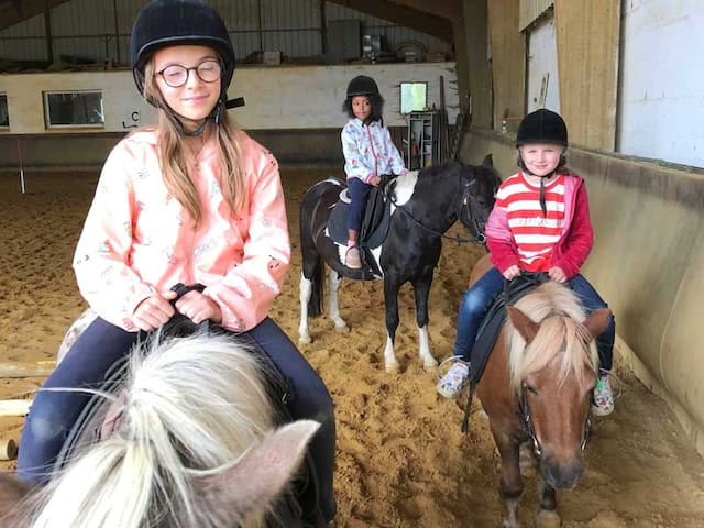
<svg viewBox="0 0 704 528"><path fill-rule="evenodd" d="M102 92L45 91L46 128L103 127Z"/></svg>

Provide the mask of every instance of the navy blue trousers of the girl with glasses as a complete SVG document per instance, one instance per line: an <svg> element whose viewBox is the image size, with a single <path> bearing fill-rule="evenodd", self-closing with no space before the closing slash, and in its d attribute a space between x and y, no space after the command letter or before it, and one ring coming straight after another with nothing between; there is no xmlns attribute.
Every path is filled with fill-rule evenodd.
<svg viewBox="0 0 704 528"><path fill-rule="evenodd" d="M320 485L320 508L324 518L331 520L337 510L332 491L336 439L332 398L316 371L272 319L264 319L242 336L254 340L288 382L292 397L286 405L292 417L321 424L310 452ZM96 319L43 388L98 388L106 371L129 352L136 339L136 332L125 332ZM47 482L56 457L89 398L81 393L41 391L36 394L20 441L18 474L23 481Z"/></svg>

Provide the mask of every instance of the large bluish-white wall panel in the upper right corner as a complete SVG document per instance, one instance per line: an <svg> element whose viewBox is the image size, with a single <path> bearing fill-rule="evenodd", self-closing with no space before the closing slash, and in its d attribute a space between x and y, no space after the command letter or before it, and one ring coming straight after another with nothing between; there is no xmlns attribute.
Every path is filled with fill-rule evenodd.
<svg viewBox="0 0 704 528"><path fill-rule="evenodd" d="M617 150L704 167L704 2L624 0Z"/></svg>

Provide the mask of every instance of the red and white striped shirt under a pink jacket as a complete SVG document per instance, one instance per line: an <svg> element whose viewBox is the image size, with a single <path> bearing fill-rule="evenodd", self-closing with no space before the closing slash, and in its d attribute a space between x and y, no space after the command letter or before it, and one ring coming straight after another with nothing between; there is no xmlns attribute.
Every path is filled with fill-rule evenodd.
<svg viewBox="0 0 704 528"><path fill-rule="evenodd" d="M506 178L496 194L495 207L506 211L516 242L519 265L529 272L547 272L564 224L564 176L546 186L547 215L540 208L540 186L522 172Z"/></svg>

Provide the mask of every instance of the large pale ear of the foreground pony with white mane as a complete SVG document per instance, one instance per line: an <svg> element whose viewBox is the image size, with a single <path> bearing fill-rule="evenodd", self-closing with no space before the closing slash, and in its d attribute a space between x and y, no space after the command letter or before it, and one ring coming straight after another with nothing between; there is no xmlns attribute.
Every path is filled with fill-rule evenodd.
<svg viewBox="0 0 704 528"><path fill-rule="evenodd" d="M272 432L251 448L233 466L194 479L196 493L231 522L265 509L283 491L304 458L320 424L299 420Z"/></svg>

